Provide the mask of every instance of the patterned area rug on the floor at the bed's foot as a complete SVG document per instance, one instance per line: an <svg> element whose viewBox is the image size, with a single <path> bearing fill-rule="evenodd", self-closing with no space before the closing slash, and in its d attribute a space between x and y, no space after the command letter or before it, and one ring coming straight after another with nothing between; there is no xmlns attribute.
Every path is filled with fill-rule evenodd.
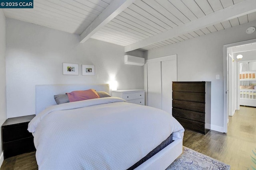
<svg viewBox="0 0 256 170"><path fill-rule="evenodd" d="M183 146L182 154L166 170L230 170L230 165Z"/></svg>

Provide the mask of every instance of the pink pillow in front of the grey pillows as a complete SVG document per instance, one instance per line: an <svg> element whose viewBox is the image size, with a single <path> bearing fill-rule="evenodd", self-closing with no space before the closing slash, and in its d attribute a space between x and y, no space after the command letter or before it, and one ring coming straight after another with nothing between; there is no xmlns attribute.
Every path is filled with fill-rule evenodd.
<svg viewBox="0 0 256 170"><path fill-rule="evenodd" d="M77 90L66 94L68 95L69 102L100 98L98 93L93 89Z"/></svg>

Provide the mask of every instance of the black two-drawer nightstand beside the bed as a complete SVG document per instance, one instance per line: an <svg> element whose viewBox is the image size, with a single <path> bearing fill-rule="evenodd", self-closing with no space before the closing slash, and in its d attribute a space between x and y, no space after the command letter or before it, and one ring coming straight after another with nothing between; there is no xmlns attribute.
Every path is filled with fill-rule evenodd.
<svg viewBox="0 0 256 170"><path fill-rule="evenodd" d="M28 129L28 123L35 115L7 119L2 125L4 159L35 151L34 137Z"/></svg>

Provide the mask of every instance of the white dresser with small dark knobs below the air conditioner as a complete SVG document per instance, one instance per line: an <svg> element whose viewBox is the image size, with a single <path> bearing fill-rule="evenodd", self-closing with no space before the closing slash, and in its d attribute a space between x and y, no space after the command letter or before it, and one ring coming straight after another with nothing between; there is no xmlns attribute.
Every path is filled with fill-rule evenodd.
<svg viewBox="0 0 256 170"><path fill-rule="evenodd" d="M145 105L145 90L115 90L112 91L112 96L122 98L129 103Z"/></svg>

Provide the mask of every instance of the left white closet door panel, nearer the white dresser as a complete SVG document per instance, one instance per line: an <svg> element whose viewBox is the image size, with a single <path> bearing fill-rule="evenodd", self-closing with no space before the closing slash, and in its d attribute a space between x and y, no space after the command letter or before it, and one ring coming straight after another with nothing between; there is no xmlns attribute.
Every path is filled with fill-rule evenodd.
<svg viewBox="0 0 256 170"><path fill-rule="evenodd" d="M148 63L148 106L162 109L161 63Z"/></svg>

